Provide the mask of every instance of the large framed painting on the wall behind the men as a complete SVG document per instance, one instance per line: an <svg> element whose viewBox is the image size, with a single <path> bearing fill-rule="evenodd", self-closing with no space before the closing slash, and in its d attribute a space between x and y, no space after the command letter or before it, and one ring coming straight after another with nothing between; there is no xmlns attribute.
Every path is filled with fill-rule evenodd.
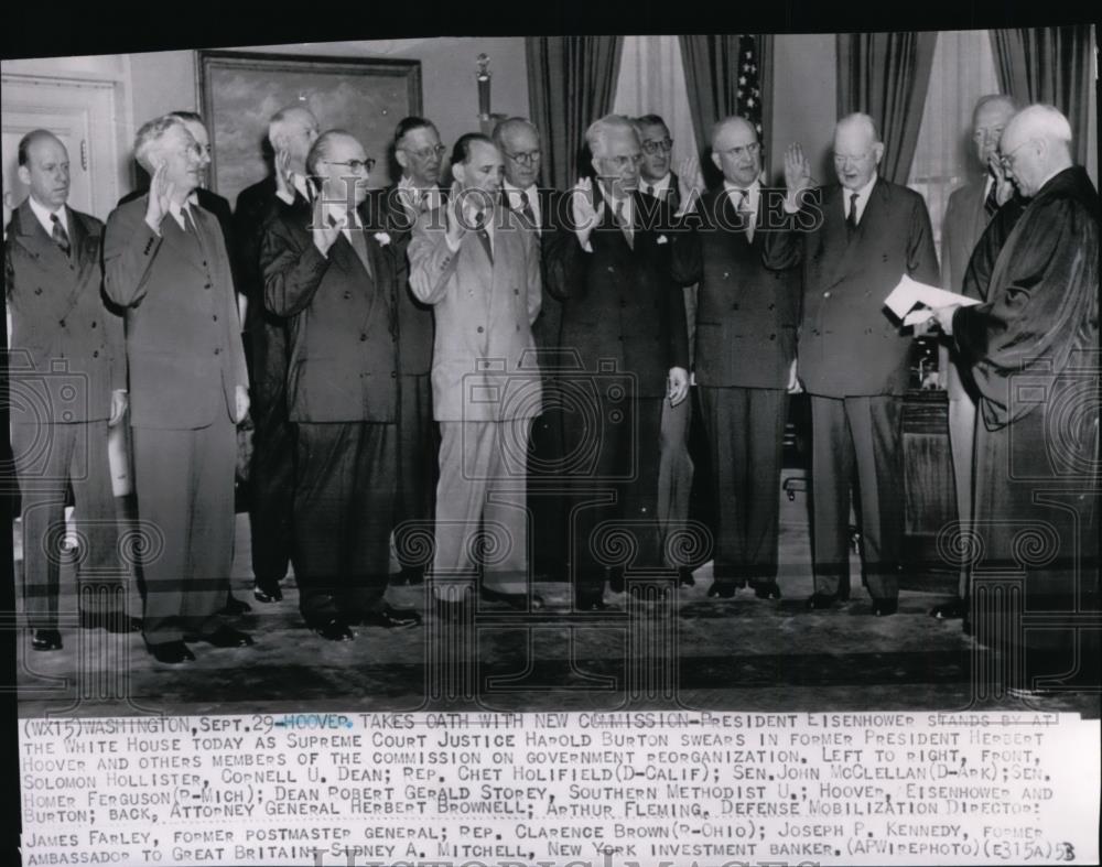
<svg viewBox="0 0 1102 867"><path fill-rule="evenodd" d="M203 117L210 130L210 184L234 203L271 172L268 120L304 105L322 130L356 136L376 159L371 186L390 182L398 121L421 113L419 61L198 52Z"/></svg>

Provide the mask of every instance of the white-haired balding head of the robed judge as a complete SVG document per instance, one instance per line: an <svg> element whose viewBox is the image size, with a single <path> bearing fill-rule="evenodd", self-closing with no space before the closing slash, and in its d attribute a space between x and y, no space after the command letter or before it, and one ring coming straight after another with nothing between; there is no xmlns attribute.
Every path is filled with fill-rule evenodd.
<svg viewBox="0 0 1102 867"><path fill-rule="evenodd" d="M1026 106L1006 124L998 150L1022 195L1034 196L1072 165L1071 124L1055 106Z"/></svg>

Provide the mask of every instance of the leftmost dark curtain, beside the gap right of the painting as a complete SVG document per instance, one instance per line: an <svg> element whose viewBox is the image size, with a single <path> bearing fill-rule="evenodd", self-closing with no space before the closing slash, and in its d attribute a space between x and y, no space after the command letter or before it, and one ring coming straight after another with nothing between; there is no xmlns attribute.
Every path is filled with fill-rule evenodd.
<svg viewBox="0 0 1102 867"><path fill-rule="evenodd" d="M620 36L529 36L528 99L541 133L543 182L572 187L585 129L612 110L619 73Z"/></svg>

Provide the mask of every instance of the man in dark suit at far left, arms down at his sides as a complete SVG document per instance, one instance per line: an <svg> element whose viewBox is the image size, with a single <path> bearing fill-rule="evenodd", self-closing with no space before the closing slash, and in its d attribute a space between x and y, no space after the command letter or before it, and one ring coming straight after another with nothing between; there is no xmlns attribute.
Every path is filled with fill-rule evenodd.
<svg viewBox="0 0 1102 867"><path fill-rule="evenodd" d="M62 647L61 543L69 485L82 537L80 625L130 628L107 429L127 405L122 319L100 295L102 224L66 205L68 153L34 130L18 148L30 196L11 218L4 286L11 315L11 438L22 497L23 610L34 650Z"/></svg>

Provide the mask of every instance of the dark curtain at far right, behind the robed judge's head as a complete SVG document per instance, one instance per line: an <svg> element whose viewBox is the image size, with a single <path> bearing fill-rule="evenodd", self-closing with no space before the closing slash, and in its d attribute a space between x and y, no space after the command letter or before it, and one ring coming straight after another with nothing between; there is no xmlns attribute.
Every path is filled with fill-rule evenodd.
<svg viewBox="0 0 1102 867"><path fill-rule="evenodd" d="M1047 102L1071 123L1073 155L1087 163L1094 46L1087 25L992 30L998 85L1022 105Z"/></svg>

